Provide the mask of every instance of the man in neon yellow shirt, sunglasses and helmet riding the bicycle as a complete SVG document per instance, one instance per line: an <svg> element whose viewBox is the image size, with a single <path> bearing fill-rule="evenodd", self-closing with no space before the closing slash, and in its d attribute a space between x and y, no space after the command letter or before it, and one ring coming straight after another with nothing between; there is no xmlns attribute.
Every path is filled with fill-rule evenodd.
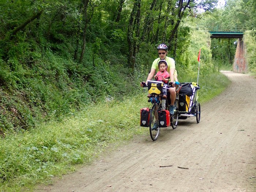
<svg viewBox="0 0 256 192"><path fill-rule="evenodd" d="M159 58L155 59L153 61L153 64L151 66L151 71L147 76L147 80L146 80L146 84L148 82L148 80L151 80L155 74L155 72L158 69L158 62L160 60L165 60L167 63L167 71L170 73L170 81L174 82L174 70L175 70L175 61L174 59L172 59L171 57L167 57L167 51L168 51L168 47L165 44L160 44L157 46L157 51L158 51L158 55ZM140 83L140 86L143 87L143 84ZM170 92L170 99L171 99L171 103L170 103L170 114L173 115L174 114L174 101L176 99L176 91L175 91L175 87L174 84L172 84L173 87L170 87L169 92Z"/></svg>

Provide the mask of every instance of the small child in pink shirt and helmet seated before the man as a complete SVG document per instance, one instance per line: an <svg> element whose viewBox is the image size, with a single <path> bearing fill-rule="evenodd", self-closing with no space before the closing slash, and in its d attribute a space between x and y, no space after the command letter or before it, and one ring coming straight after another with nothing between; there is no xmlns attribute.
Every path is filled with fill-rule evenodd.
<svg viewBox="0 0 256 192"><path fill-rule="evenodd" d="M157 79L158 81L162 81L164 83L163 86L167 86L168 85L168 81L170 79L170 75L166 71L167 63L166 63L165 60L160 60L158 62L158 69L159 69L159 71L154 76L154 78ZM162 110L165 110L166 97L167 97L167 89L163 89L163 94L162 94Z"/></svg>

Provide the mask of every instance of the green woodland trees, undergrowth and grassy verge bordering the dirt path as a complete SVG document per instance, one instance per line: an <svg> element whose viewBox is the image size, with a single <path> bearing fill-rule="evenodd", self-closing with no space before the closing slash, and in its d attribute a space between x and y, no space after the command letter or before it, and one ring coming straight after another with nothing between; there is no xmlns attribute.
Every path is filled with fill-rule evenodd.
<svg viewBox="0 0 256 192"><path fill-rule="evenodd" d="M228 84L219 70L232 68L236 50L237 39L210 39L212 27L245 32L248 71L255 75L256 2L216 5L217 0L1 0L0 189L33 187L91 161L95 146L100 151L108 142L143 133L134 123L139 108L148 105L139 82L146 80L162 42L180 82L196 81L201 49L202 101Z"/></svg>

